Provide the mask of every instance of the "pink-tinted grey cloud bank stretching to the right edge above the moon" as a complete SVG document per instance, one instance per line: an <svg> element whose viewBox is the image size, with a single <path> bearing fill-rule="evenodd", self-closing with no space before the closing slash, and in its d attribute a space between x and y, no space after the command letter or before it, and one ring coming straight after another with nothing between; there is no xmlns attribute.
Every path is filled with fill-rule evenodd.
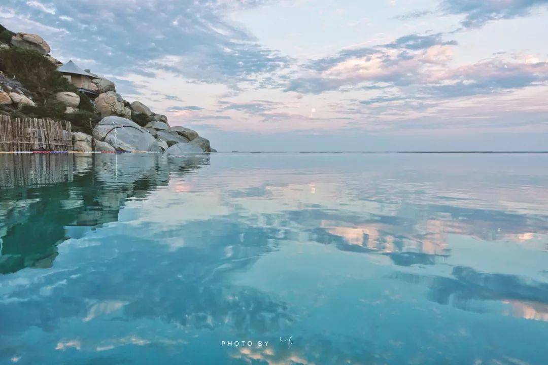
<svg viewBox="0 0 548 365"><path fill-rule="evenodd" d="M451 67L455 40L442 33L407 34L376 47L344 50L304 65L284 91L388 89L363 99L362 106L397 106L400 111L427 109L446 98L492 94L547 82L546 62L533 56L504 53L492 59Z"/></svg>

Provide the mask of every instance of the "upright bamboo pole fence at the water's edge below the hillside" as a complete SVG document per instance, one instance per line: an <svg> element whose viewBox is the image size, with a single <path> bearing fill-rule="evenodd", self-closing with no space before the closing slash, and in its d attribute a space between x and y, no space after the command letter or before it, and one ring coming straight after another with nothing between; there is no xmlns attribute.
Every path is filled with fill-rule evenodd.
<svg viewBox="0 0 548 365"><path fill-rule="evenodd" d="M0 115L0 152L71 150L70 121Z"/></svg>

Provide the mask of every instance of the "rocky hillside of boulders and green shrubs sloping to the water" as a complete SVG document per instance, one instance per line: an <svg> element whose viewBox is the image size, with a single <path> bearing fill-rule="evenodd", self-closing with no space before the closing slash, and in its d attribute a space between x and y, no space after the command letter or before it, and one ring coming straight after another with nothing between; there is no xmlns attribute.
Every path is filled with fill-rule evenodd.
<svg viewBox="0 0 548 365"><path fill-rule="evenodd" d="M89 85L81 88L74 80L71 84L66 76L70 72L63 71L67 67L62 67L50 51L48 43L37 34L13 33L0 26L0 113L70 120L76 130L72 132L74 150L79 152L216 152L196 131L171 126L165 115L151 111L141 101L125 100L111 80L89 69L81 70L72 61L65 66L76 70L75 74L79 72L80 79L89 79ZM19 67L19 60L22 65L40 68L36 70L39 74L29 75L35 70ZM42 73L46 75L40 79ZM52 86L44 92L46 81Z"/></svg>

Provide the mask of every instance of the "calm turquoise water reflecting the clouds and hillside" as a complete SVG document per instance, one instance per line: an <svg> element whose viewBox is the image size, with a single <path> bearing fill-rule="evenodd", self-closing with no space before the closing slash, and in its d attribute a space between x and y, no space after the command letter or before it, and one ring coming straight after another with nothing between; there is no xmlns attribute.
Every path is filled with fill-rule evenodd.
<svg viewBox="0 0 548 365"><path fill-rule="evenodd" d="M2 364L548 363L548 155L0 155L0 187Z"/></svg>

